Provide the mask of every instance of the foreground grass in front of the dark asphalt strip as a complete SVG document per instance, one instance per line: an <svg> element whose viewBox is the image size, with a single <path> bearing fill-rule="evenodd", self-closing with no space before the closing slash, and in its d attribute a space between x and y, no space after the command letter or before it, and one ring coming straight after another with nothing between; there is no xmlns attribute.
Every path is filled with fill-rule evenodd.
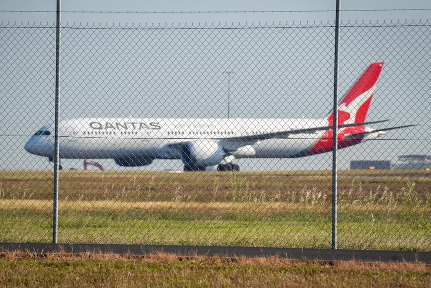
<svg viewBox="0 0 431 288"><path fill-rule="evenodd" d="M412 263L149 254L0 255L1 287L429 287Z"/></svg>

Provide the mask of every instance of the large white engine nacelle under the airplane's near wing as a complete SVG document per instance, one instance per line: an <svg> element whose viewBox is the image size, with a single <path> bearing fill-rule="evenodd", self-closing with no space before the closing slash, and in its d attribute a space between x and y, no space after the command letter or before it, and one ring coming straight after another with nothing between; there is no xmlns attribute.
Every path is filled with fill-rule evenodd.
<svg viewBox="0 0 431 288"><path fill-rule="evenodd" d="M181 148L181 161L184 165L197 169L214 166L223 161L225 153L219 141L196 139L184 143Z"/></svg>

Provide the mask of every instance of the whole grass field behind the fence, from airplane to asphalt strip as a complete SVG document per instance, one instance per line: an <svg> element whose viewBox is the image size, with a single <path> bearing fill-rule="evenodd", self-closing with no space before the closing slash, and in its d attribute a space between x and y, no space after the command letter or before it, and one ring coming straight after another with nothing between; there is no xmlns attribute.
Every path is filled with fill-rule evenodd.
<svg viewBox="0 0 431 288"><path fill-rule="evenodd" d="M58 241L329 248L330 171L61 171ZM431 174L340 171L338 248L431 250ZM50 242L52 172L0 172L0 241Z"/></svg>

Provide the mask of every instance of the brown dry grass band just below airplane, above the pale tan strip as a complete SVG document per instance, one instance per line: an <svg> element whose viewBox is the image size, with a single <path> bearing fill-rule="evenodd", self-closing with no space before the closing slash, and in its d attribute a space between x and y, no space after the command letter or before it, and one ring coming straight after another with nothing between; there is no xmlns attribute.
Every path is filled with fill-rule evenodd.
<svg viewBox="0 0 431 288"><path fill-rule="evenodd" d="M338 191L376 196L398 193L414 183L420 196L431 191L425 171L341 171ZM50 171L0 171L0 197L51 199ZM153 171L61 171L60 198L70 200L122 201L296 201L307 191L325 195L330 201L330 171L167 173ZM240 200L240 199L239 199Z"/></svg>

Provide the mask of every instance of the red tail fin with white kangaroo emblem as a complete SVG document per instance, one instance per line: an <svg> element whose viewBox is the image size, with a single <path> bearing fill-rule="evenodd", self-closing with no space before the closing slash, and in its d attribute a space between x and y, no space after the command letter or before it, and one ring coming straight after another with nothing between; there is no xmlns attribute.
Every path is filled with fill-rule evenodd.
<svg viewBox="0 0 431 288"><path fill-rule="evenodd" d="M338 103L339 125L365 121L382 67L383 62L370 64L341 102ZM333 125L333 113L329 115L327 120L329 125Z"/></svg>

